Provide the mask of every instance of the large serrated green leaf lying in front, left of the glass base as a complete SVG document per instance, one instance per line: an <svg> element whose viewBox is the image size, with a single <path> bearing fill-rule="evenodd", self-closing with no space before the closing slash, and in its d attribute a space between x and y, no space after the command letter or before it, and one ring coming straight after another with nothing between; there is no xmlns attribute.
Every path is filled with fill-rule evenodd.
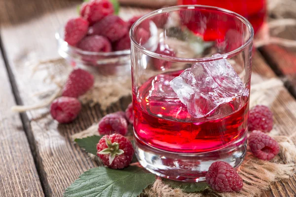
<svg viewBox="0 0 296 197"><path fill-rule="evenodd" d="M80 175L64 197L137 197L154 181L154 174L138 166L122 170L96 167Z"/></svg>

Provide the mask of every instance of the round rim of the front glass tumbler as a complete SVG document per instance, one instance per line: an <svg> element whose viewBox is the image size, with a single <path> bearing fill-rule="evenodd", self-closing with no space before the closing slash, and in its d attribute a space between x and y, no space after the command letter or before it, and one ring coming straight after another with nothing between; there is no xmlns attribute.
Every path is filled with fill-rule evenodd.
<svg viewBox="0 0 296 197"><path fill-rule="evenodd" d="M240 21L242 21L246 27L249 29L250 31L250 36L247 39L246 42L244 42L240 47L225 53L225 54L220 54L217 55L215 57L204 57L204 58L178 58L178 57L172 57L172 56L167 56L167 55L161 55L152 51L147 50L146 48L144 48L143 46L141 46L136 40L135 37L133 36L133 32L134 30L146 19L152 17L152 16L156 16L158 14L161 13L168 13L171 11L178 11L180 10L180 8L187 8L187 9L192 9L193 8L204 8L204 9L210 9L210 10L217 10L217 11L221 11L227 14L230 14L236 18L238 18ZM130 39L132 44L142 53L153 57L153 58L158 58L161 60L166 60L166 61L170 61L170 62L177 62L177 63L197 63L197 62L210 62L210 61L215 61L215 60L221 60L221 59L226 59L226 58L231 58L235 55L237 55L238 53L240 53L241 51L243 51L250 43L252 43L252 40L254 38L254 29L253 26L251 25L251 23L243 16L241 16L240 14L237 14L233 11L230 11L228 9L224 9L224 8L220 8L220 7L215 7L215 6L208 6L208 5L177 5L177 6L171 6L171 7L166 7L166 8L161 8L155 11L152 11L144 16L142 16L140 19L138 19L131 27L130 29ZM131 45L132 47L132 45Z"/></svg>

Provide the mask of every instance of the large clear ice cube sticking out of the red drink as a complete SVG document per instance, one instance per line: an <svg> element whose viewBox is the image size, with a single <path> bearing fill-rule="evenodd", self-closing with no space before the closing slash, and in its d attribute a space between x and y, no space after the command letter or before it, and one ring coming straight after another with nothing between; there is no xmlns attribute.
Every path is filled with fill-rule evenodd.
<svg viewBox="0 0 296 197"><path fill-rule="evenodd" d="M170 81L170 86L195 118L209 116L218 106L248 92L225 59L196 63Z"/></svg>

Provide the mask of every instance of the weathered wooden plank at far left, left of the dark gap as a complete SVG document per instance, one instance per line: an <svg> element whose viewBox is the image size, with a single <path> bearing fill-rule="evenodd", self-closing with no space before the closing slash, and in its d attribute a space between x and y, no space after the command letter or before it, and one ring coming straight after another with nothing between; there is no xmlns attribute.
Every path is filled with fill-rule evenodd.
<svg viewBox="0 0 296 197"><path fill-rule="evenodd" d="M0 56L0 197L42 197L41 183Z"/></svg>

